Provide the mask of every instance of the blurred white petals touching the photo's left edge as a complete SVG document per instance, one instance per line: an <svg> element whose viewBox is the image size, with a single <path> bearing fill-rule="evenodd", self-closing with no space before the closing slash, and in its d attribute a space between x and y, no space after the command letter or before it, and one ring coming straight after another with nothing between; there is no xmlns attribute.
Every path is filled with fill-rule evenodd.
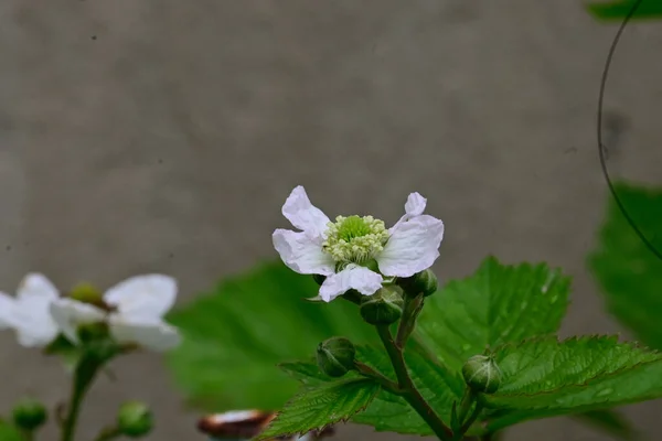
<svg viewBox="0 0 662 441"><path fill-rule="evenodd" d="M58 333L49 312L58 295L45 276L29 273L19 284L15 298L0 292L0 329L14 330L22 346L46 346Z"/></svg>

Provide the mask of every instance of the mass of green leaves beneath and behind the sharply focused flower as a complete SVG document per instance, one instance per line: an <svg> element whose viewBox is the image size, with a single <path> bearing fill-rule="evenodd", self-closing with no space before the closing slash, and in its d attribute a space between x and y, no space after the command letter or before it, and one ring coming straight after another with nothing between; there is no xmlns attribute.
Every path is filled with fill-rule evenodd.
<svg viewBox="0 0 662 441"><path fill-rule="evenodd" d="M504 266L488 258L472 277L426 298L405 359L423 397L447 423L465 390L462 365L487 347L494 351L503 383L485 398L488 408L472 433L584 411L591 412L584 419L613 428L617 417L604 409L662 396L656 353L612 337L557 341L553 334L565 314L569 284L568 277L545 265ZM357 343L359 361L395 379L385 352L366 344L375 333L356 305L302 300L317 290L311 278L281 263L263 265L175 312L170 320L184 343L171 354L170 366L190 399L212 411L278 409L295 394L297 379L303 391L265 435L344 419L382 431L431 434L404 399L372 380L350 372L339 383L320 373L316 346L344 335ZM289 378L275 367L279 363Z"/></svg>

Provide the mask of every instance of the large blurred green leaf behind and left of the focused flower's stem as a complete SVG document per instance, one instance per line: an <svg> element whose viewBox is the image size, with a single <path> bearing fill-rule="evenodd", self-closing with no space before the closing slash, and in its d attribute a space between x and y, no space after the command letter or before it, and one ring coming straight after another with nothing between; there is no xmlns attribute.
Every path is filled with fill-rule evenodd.
<svg viewBox="0 0 662 441"><path fill-rule="evenodd" d="M319 342L343 335L374 340L355 305L311 303L319 287L280 261L227 279L168 320L183 343L168 366L192 406L207 411L278 409L297 391L277 365L314 354Z"/></svg>

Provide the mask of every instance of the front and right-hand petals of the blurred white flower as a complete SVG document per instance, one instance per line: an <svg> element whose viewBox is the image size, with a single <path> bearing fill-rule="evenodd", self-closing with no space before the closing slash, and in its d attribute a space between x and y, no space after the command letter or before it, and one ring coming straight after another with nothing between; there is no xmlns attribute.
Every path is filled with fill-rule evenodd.
<svg viewBox="0 0 662 441"><path fill-rule="evenodd" d="M107 322L118 343L138 344L153 351L167 351L180 342L179 332L163 321L174 304L177 282L168 276L148 275L129 278L104 293L110 311L73 299L52 303L51 314L62 333L77 343L82 324Z"/></svg>

